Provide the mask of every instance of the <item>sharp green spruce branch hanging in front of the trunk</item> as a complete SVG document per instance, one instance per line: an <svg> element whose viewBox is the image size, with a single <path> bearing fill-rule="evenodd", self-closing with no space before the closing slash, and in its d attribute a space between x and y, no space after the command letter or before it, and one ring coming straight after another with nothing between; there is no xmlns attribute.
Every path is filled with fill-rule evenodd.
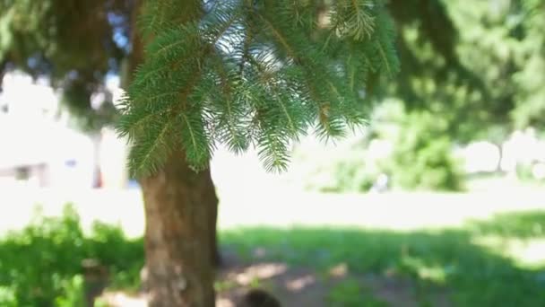
<svg viewBox="0 0 545 307"><path fill-rule="evenodd" d="M117 125L133 143L134 174L157 170L177 147L205 167L216 142L236 153L253 144L267 171L283 171L308 127L329 139L365 124L369 72L398 70L382 0L319 10L311 1L212 1L189 15L172 0L147 3L145 61ZM318 22L324 12L331 22Z"/></svg>

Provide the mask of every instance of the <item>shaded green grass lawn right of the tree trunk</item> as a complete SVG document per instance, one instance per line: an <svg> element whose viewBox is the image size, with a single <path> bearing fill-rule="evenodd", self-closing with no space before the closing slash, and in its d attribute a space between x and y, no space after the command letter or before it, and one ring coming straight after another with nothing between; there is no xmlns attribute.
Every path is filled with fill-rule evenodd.
<svg viewBox="0 0 545 307"><path fill-rule="evenodd" d="M502 253L502 244L495 248L475 241L485 234L538 239L545 237L544 232L535 231L541 227L545 227L545 213L533 212L434 232L251 228L223 232L221 241L247 258L260 247L267 251L266 259L287 261L291 266L327 270L346 263L350 274L409 277L424 305L428 292L442 288L456 306L533 307L545 306L545 266L524 268Z"/></svg>

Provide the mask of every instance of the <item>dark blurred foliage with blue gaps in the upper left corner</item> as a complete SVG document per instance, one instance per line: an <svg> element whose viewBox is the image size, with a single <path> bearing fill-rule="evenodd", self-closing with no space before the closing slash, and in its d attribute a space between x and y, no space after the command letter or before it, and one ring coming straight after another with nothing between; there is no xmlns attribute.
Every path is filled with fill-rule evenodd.
<svg viewBox="0 0 545 307"><path fill-rule="evenodd" d="M85 128L111 122L111 103L91 108L105 76L118 74L130 51L130 0L0 1L0 74L21 69L61 88L63 106ZM1 78L0 78L1 79ZM107 101L111 102L111 101Z"/></svg>

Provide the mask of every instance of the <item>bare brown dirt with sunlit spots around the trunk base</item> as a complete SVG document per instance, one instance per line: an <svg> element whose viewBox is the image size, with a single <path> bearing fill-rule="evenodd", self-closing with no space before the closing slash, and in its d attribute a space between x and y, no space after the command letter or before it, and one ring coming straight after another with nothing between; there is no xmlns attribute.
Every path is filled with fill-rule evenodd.
<svg viewBox="0 0 545 307"><path fill-rule="evenodd" d="M350 297L363 306L416 307L421 301L416 285L409 279L395 276L358 276L348 271L344 264L327 272L317 272L311 268L290 267L283 262L244 263L235 257L227 257L217 276L217 306L237 307L238 302L252 288L261 288L273 294L285 307L327 307L353 306L350 303L332 301L335 287L350 281L359 285L361 291ZM347 294L354 295L354 293ZM146 306L144 294L128 295L122 292L105 292L100 296L103 303L112 307ZM369 302L369 304L367 304ZM448 307L446 291L428 294L432 306ZM371 304L375 303L375 304ZM358 305L359 306L359 305Z"/></svg>

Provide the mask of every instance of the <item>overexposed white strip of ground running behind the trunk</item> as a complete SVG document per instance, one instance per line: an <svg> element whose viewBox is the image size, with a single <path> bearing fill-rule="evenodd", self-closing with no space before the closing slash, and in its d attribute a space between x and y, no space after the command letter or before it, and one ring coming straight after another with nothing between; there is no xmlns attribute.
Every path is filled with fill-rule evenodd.
<svg viewBox="0 0 545 307"><path fill-rule="evenodd" d="M218 189L219 227L358 226L392 230L458 226L513 211L545 210L545 191L503 190L460 194L321 194L286 186ZM143 233L140 190L5 189L0 195L0 233L28 224L37 204L59 215L74 203L88 229L99 220L119 224L129 236Z"/></svg>

